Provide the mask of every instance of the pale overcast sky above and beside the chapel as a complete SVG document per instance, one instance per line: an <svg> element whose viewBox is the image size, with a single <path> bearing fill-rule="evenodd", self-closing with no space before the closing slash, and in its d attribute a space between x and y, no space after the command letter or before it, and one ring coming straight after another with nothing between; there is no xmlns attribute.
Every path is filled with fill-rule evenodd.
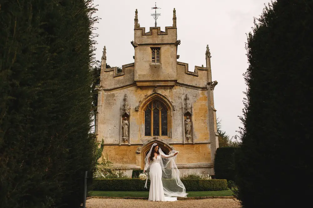
<svg viewBox="0 0 313 208"><path fill-rule="evenodd" d="M222 120L222 130L233 136L242 126L238 116L242 115L243 91L246 90L243 73L248 67L245 50L246 33L253 27L253 17L259 17L264 3L270 0L94 0L98 5L95 25L99 36L95 39L96 58L101 59L106 46L107 64L111 67L133 63L134 17L138 9L141 27L154 27L151 7L156 2L161 16L157 26L164 31L172 26L173 8L176 9L178 61L194 66L205 66L205 51L211 52L212 80L217 80L214 89L216 114Z"/></svg>

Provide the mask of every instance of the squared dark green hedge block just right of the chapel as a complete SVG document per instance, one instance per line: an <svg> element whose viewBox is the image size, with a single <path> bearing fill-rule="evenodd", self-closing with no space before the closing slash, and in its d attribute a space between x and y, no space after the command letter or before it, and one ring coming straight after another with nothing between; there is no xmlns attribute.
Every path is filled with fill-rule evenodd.
<svg viewBox="0 0 313 208"><path fill-rule="evenodd" d="M234 152L237 149L236 147L222 147L216 150L214 159L215 178L228 181L235 180Z"/></svg>

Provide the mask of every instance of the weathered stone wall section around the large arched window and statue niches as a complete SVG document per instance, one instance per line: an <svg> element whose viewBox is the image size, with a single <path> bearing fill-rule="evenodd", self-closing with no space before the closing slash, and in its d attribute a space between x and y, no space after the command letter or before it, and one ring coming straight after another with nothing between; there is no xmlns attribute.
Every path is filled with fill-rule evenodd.
<svg viewBox="0 0 313 208"><path fill-rule="evenodd" d="M175 86L173 89L140 89L137 86L124 88L112 92L101 92L101 106L98 107L98 139L104 139L106 144L119 144L121 129L121 106L125 94L128 96L130 105L130 143L143 143L151 137L144 136L144 123L142 118L142 106L153 98L153 95L163 95L170 102L172 108L171 128L169 137L164 136L168 142L183 142L183 111L185 106L185 96L188 94L190 105L192 105L192 126L194 129L193 137L197 142L208 142L208 92L209 90L197 90ZM157 96L157 98L159 98ZM161 97L162 98L162 97ZM148 99L148 100L146 100ZM138 111L135 110L140 106ZM192 141L190 141L192 142Z"/></svg>

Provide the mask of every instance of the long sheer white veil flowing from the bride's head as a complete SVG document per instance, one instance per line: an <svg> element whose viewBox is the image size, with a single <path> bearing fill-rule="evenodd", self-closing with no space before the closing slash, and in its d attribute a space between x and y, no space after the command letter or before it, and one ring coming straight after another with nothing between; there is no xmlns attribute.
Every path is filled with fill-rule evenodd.
<svg viewBox="0 0 313 208"><path fill-rule="evenodd" d="M152 144L151 149L145 158L146 166L149 163L149 157L151 155L152 149L156 145L158 144L157 143ZM175 163L176 156L173 156L174 153L176 153L177 151L172 150L169 152L169 155L166 155L162 151L160 145L158 146L159 146L159 153L161 155L160 165L162 167L162 183L163 183L164 196L187 197L186 188L184 184L182 183L182 181L180 180L180 173ZM149 167L147 167L146 172L149 178L150 165ZM147 187L148 178L146 179L145 187Z"/></svg>

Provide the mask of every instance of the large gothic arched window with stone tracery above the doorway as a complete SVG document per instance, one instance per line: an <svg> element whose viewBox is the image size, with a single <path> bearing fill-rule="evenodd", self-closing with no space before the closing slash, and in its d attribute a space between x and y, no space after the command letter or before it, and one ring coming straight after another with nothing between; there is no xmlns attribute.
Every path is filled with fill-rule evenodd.
<svg viewBox="0 0 313 208"><path fill-rule="evenodd" d="M145 110L145 136L167 136L167 107L159 100L150 102Z"/></svg>

